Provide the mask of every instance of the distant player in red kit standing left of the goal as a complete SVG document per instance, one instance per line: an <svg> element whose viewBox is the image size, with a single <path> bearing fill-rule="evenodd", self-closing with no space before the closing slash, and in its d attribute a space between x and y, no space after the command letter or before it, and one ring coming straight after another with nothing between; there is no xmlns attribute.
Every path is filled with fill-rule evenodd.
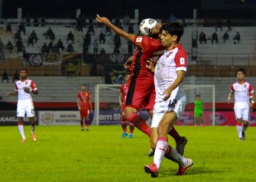
<svg viewBox="0 0 256 182"><path fill-rule="evenodd" d="M91 105L91 93L86 91L86 84L82 84L81 92L78 93L78 110L80 111L80 125L83 129L83 121L86 119L86 131L89 131L88 127L90 124L90 114L93 113L92 105Z"/></svg>

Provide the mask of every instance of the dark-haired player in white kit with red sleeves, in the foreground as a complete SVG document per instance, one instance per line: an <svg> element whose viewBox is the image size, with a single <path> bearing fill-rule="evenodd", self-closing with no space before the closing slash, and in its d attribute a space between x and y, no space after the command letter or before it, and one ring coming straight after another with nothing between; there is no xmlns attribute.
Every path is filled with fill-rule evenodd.
<svg viewBox="0 0 256 182"><path fill-rule="evenodd" d="M192 159L187 159L168 144L167 133L181 116L186 106L186 95L183 79L187 71L187 52L178 44L184 33L180 23L162 25L162 44L167 47L165 53L157 61L154 69L156 103L154 105L151 127L157 127L158 141L152 165L144 167L151 177L157 177L162 158L173 158L178 162L176 175L184 175L192 166Z"/></svg>

